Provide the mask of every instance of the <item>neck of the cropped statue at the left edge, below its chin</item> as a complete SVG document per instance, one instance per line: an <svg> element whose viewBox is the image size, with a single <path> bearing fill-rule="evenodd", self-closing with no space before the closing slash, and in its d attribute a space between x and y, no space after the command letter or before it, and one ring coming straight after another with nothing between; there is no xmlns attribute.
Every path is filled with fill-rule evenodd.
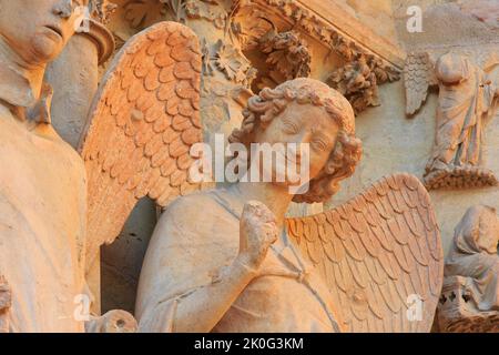
<svg viewBox="0 0 499 355"><path fill-rule="evenodd" d="M45 65L29 65L0 37L0 102L16 112L40 97Z"/></svg>

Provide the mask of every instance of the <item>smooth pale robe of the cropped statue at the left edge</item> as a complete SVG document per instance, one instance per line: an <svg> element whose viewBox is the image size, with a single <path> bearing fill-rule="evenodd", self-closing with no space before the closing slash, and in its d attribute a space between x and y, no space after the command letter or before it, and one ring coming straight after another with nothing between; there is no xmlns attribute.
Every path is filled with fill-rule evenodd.
<svg viewBox="0 0 499 355"><path fill-rule="evenodd" d="M9 331L83 332L74 300L84 287L84 166L50 124L33 124L0 104L0 274L12 294Z"/></svg>

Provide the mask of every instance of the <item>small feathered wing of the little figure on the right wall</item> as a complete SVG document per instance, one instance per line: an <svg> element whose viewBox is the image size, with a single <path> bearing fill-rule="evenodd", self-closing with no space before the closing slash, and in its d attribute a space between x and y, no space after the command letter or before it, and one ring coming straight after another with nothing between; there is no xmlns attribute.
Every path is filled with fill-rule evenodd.
<svg viewBox="0 0 499 355"><path fill-rule="evenodd" d="M404 85L406 88L406 113L415 114L426 101L428 89L436 85L434 63L429 53L410 53L404 68Z"/></svg>

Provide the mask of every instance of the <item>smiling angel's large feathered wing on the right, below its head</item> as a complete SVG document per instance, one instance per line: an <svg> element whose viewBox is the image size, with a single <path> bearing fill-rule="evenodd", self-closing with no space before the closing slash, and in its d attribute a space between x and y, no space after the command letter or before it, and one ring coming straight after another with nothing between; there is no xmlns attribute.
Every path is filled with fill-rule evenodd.
<svg viewBox="0 0 499 355"><path fill-rule="evenodd" d="M429 195L415 176L384 178L338 209L287 220L287 227L350 332L430 331L444 255ZM410 308L408 316L414 295L422 314Z"/></svg>

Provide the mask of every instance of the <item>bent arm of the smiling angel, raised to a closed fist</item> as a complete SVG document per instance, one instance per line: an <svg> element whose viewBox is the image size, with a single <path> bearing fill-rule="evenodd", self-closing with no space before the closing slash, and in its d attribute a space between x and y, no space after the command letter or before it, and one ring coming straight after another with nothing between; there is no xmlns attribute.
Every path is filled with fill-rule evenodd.
<svg viewBox="0 0 499 355"><path fill-rule="evenodd" d="M195 280L198 275L206 274L206 265L203 263L203 257L210 257L211 255L203 256L202 254L210 253L210 248L191 248L189 242L179 246L174 242L173 244L177 245L174 251L171 251L171 247L169 247L170 250L162 252L163 246L161 245L161 241L159 241L161 240L161 235L157 235L159 240L153 239L151 245L152 254L146 256L145 270L143 271L143 275L141 275L139 298L146 300L152 296L154 301L153 303L147 302L146 307L141 310L140 331L207 333L216 326L244 288L257 276L267 250L277 236L272 214L269 211L262 212L262 209L265 207L262 206L249 204L245 207L241 220L240 252L234 261L227 267L221 268L220 274L210 282L203 283L200 280ZM174 214L176 213L166 215L165 220L161 222L161 225L166 226L165 230L169 230L169 237L182 241L181 243L184 243L186 240L191 242L195 240L195 236L190 235L191 232L182 235L181 231L174 231L175 225L179 225L179 220L175 219ZM159 231L162 230L161 225ZM170 260L171 262L169 262L166 267L161 267L161 260ZM223 264L223 261L221 263ZM161 275L157 274L159 272L161 272ZM152 277L155 277L156 282L144 285L149 283L147 275L153 275ZM143 277L145 280L142 280ZM182 290L173 290L175 287L171 286L172 283L189 284L190 277L193 280L192 283L203 283L203 285L192 288L184 285ZM162 281L164 280L167 280L166 284L169 286L161 287ZM162 308L162 305L165 303L170 303L174 307L174 311L165 311L165 308ZM169 320L159 320L155 322L147 320L147 317L157 316ZM143 324L170 324L171 326L146 325L143 327Z"/></svg>

